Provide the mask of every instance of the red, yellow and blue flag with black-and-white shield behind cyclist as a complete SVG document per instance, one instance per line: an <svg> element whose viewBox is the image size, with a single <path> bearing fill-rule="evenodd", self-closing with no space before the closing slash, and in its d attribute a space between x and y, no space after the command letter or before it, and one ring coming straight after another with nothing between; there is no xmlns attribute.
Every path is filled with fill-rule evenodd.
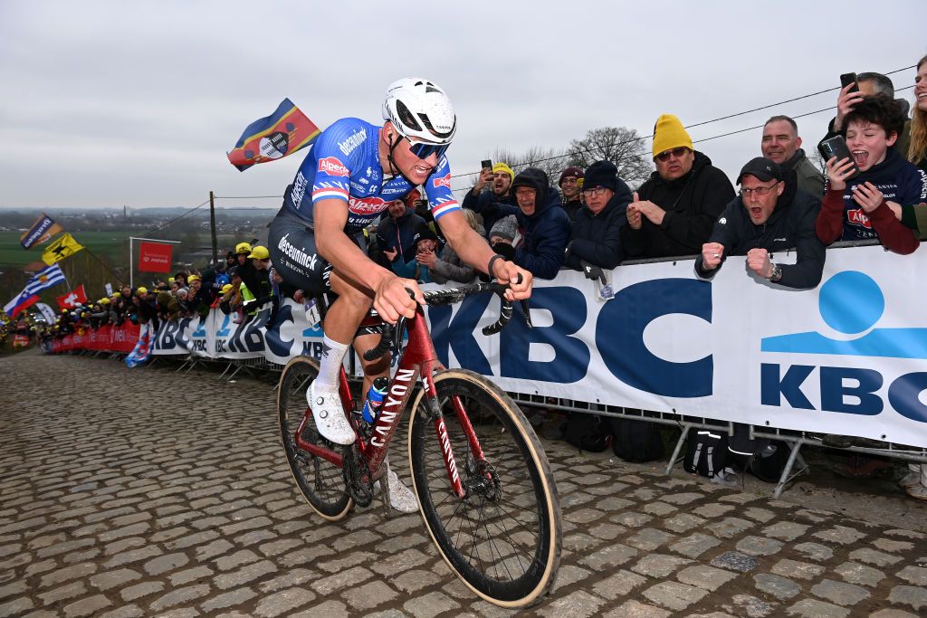
<svg viewBox="0 0 927 618"><path fill-rule="evenodd" d="M256 163L292 155L314 142L319 133L314 122L284 99L273 114L246 127L228 158L238 171L245 171Z"/></svg>

